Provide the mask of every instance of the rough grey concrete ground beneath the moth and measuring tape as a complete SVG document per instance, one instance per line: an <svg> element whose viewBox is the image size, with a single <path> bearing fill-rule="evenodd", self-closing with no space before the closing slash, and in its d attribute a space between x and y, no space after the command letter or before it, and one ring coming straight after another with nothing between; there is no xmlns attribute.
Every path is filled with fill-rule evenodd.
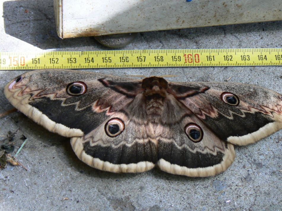
<svg viewBox="0 0 282 211"><path fill-rule="evenodd" d="M93 38L56 36L52 0L0 0L0 51L104 50ZM140 33L123 49L282 47L282 21ZM112 75L179 75L174 81L251 83L282 93L282 67L175 67L89 70ZM0 71L0 112L12 109L3 88L25 71ZM78 160L68 138L16 112L0 119L0 140L16 132L17 159L27 167L0 170L0 210L282 210L282 131L236 146L234 163L208 178L158 169L115 174ZM14 154L14 153L12 153Z"/></svg>

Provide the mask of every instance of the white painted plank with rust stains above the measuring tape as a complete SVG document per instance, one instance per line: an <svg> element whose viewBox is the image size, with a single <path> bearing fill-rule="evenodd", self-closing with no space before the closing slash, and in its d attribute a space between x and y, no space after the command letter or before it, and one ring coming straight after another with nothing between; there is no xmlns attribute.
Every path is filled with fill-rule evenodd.
<svg viewBox="0 0 282 211"><path fill-rule="evenodd" d="M281 0L54 0L62 38L282 20Z"/></svg>

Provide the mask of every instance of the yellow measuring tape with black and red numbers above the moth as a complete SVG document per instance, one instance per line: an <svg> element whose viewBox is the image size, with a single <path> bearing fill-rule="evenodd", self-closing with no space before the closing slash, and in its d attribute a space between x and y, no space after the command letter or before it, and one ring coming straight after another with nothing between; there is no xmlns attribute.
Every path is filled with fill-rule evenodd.
<svg viewBox="0 0 282 211"><path fill-rule="evenodd" d="M282 65L282 48L0 52L0 70Z"/></svg>

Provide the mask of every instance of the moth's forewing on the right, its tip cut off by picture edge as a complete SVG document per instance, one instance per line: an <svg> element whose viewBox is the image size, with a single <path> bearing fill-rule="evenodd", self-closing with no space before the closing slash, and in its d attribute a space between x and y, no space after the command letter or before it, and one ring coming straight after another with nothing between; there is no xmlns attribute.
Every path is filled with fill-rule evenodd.
<svg viewBox="0 0 282 211"><path fill-rule="evenodd" d="M254 143L282 128L282 97L275 91L240 83L172 83L171 87L177 99L230 143Z"/></svg>

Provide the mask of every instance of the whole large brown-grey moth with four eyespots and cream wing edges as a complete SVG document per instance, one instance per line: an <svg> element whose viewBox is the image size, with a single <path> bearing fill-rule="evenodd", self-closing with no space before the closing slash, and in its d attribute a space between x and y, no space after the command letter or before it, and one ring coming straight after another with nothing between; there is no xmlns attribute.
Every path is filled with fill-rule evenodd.
<svg viewBox="0 0 282 211"><path fill-rule="evenodd" d="M258 86L168 83L77 70L36 70L4 89L18 110L62 136L80 160L111 172L158 166L210 176L249 144L282 128L282 97Z"/></svg>

